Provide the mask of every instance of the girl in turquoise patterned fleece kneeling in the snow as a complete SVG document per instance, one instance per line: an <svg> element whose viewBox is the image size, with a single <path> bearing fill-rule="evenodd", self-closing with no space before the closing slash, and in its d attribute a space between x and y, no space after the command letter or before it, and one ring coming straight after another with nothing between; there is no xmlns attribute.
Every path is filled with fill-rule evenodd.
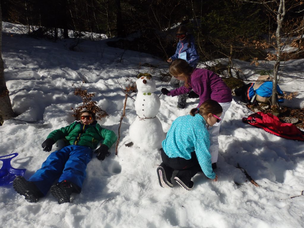
<svg viewBox="0 0 304 228"><path fill-rule="evenodd" d="M221 120L222 112L218 102L207 100L199 109L191 109L190 115L173 121L162 142L162 163L157 168L161 187L173 187L171 177L174 170L178 170L174 180L186 190L192 190L194 183L191 178L198 171L217 181L217 175L212 170L207 128Z"/></svg>

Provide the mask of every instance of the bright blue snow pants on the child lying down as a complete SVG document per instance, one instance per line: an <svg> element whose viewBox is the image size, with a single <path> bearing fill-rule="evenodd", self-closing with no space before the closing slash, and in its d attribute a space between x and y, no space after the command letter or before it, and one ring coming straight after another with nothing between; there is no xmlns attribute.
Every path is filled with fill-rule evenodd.
<svg viewBox="0 0 304 228"><path fill-rule="evenodd" d="M29 178L29 181L46 195L54 181L71 181L80 190L85 180L87 164L92 158L93 150L89 147L70 145L52 152L41 168Z"/></svg>

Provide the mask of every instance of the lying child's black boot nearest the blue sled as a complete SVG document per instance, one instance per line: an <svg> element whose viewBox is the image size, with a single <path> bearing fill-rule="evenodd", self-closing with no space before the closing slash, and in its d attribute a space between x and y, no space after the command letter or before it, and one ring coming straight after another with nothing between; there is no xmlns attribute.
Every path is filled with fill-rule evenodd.
<svg viewBox="0 0 304 228"><path fill-rule="evenodd" d="M17 176L14 179L13 188L18 194L24 195L26 201L30 203L38 202L39 198L43 196L42 192L33 182L27 181L22 176Z"/></svg>

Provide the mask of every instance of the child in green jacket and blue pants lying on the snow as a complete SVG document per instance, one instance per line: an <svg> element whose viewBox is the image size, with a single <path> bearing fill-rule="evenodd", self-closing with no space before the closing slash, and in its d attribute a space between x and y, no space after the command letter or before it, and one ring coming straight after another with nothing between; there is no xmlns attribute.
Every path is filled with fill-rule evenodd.
<svg viewBox="0 0 304 228"><path fill-rule="evenodd" d="M38 202L49 190L59 204L70 202L71 193L81 192L85 169L98 142L101 144L95 153L99 160L104 160L117 140L116 134L102 128L95 120L95 113L89 110L80 113L79 121L52 131L42 143L43 150L51 151L52 145L63 138L68 146L52 152L28 181L22 176L13 181L15 191L24 195L28 202ZM58 183L54 184L58 178Z"/></svg>

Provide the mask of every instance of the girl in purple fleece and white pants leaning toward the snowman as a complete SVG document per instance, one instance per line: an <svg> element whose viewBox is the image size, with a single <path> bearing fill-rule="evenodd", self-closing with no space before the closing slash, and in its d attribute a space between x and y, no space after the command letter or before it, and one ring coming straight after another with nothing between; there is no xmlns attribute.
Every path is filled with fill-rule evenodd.
<svg viewBox="0 0 304 228"><path fill-rule="evenodd" d="M210 148L212 168L216 168L216 162L219 154L218 133L225 112L229 109L232 101L231 89L225 82L215 73L206 69L192 68L187 61L183 59L176 59L172 61L169 67L170 74L178 79L185 81L185 85L169 91L162 88L161 92L167 96L177 96L193 90L199 95L199 105L208 99L217 101L223 108L221 121L213 125L209 130Z"/></svg>

